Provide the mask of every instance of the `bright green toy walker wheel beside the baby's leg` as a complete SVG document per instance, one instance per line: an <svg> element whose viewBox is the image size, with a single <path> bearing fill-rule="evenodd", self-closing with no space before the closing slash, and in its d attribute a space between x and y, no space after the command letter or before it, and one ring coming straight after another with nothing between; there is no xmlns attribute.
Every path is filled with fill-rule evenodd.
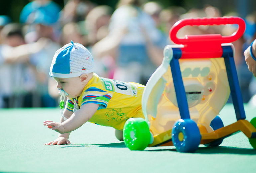
<svg viewBox="0 0 256 173"><path fill-rule="evenodd" d="M143 118L129 118L123 129L124 143L130 150L144 150L150 142L150 131Z"/></svg>

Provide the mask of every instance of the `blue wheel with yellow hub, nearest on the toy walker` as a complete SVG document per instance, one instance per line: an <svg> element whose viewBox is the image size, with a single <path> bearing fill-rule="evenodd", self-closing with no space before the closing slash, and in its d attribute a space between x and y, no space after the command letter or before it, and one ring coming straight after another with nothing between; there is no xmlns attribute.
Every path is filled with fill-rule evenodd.
<svg viewBox="0 0 256 173"><path fill-rule="evenodd" d="M172 141L179 152L195 152L201 142L201 134L191 119L180 119L174 123Z"/></svg>

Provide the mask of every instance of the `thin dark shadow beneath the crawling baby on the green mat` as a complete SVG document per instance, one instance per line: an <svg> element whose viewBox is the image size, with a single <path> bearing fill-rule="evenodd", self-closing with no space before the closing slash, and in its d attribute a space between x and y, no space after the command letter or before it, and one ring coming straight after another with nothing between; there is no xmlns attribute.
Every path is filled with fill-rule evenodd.
<svg viewBox="0 0 256 173"><path fill-rule="evenodd" d="M125 148L124 142L120 143L109 143L109 144L70 144L65 145L62 148L69 148L69 147L91 147L91 146L97 146L97 147L107 147L107 148Z"/></svg>

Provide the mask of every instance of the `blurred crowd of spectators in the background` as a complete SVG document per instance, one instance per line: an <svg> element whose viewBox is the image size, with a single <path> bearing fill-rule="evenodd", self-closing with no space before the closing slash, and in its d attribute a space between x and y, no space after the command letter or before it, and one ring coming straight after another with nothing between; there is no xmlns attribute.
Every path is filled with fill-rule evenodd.
<svg viewBox="0 0 256 173"><path fill-rule="evenodd" d="M92 53L99 76L145 85L161 64L164 47L173 44L168 33L175 22L224 15L212 6L186 11L146 0L119 0L115 9L88 0L64 0L64 8L50 0L31 1L22 9L19 23L0 16L0 108L58 106L49 67L55 51L71 40ZM244 36L233 44L243 100L248 102L256 93L256 80L243 51L256 38L256 13L245 21ZM236 27L187 26L178 36L231 35Z"/></svg>

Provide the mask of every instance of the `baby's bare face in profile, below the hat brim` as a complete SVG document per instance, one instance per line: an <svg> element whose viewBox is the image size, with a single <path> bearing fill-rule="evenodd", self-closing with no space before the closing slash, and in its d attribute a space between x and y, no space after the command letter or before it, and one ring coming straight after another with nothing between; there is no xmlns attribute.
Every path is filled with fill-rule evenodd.
<svg viewBox="0 0 256 173"><path fill-rule="evenodd" d="M76 98L81 95L84 82L81 80L80 77L73 77L73 78L56 78L54 77L55 81L57 82L57 88L63 89L65 92L68 93L69 98Z"/></svg>

